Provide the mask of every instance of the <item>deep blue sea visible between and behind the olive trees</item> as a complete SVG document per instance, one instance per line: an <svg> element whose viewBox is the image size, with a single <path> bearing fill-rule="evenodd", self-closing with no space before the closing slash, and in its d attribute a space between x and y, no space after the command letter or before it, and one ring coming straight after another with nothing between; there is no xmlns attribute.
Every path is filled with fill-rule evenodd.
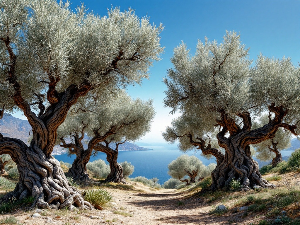
<svg viewBox="0 0 300 225"><path fill-rule="evenodd" d="M134 173L130 177L144 176L147 179L152 179L157 177L160 184L164 184L168 179L171 178L168 175L168 164L178 158L180 155L195 155L198 157L204 165L210 163L216 163L215 158L208 160L200 155L201 151L194 152L190 151L187 153L182 153L177 149L176 145L165 145L165 146L141 146L144 148L152 149L148 151L119 151L118 162L130 162L134 165ZM281 151L282 156L289 156L292 151ZM58 161L63 161L67 163L73 163L75 155L70 157L67 154L54 155ZM106 161L106 154L98 152L96 157L91 156L90 162L102 159ZM259 162L259 164L265 162Z"/></svg>

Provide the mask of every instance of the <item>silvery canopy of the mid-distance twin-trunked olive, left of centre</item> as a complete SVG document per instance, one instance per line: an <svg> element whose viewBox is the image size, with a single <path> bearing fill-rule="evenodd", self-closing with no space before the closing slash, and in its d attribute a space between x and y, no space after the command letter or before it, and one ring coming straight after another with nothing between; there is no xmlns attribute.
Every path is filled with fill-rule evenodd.
<svg viewBox="0 0 300 225"><path fill-rule="evenodd" d="M72 137L83 131L89 137L94 137L95 131L101 136L110 134L107 141L136 141L150 131L155 115L152 100L133 100L123 90L115 96L97 100L96 105L84 104L86 101L82 98L69 111L67 119L58 128L58 142L61 137Z"/></svg>

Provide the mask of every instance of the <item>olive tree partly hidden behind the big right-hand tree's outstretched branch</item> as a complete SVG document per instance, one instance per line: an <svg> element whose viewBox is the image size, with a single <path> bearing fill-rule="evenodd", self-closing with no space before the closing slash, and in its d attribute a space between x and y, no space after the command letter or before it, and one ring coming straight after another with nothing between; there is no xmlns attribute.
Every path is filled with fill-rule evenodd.
<svg viewBox="0 0 300 225"><path fill-rule="evenodd" d="M257 122L254 122L252 127L262 127L268 122L269 115L262 115ZM287 149L291 145L292 134L289 131L285 131L283 128L278 128L275 137L265 140L261 143L254 145L256 149L256 158L262 161L268 161L272 159L272 167L275 167L278 163L282 162L282 156L280 151Z"/></svg>

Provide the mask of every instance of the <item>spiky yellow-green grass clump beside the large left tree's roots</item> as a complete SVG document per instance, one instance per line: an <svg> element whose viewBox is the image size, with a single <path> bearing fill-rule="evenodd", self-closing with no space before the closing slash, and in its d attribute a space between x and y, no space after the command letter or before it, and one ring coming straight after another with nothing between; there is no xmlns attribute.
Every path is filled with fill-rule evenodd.
<svg viewBox="0 0 300 225"><path fill-rule="evenodd" d="M86 190L84 193L84 198L91 204L100 205L102 207L107 206L113 200L113 196L104 189Z"/></svg>

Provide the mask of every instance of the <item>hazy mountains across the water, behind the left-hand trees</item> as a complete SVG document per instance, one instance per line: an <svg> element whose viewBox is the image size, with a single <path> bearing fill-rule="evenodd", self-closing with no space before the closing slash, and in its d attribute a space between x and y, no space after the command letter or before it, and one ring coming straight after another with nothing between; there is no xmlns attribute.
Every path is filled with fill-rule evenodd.
<svg viewBox="0 0 300 225"><path fill-rule="evenodd" d="M27 120L18 119L13 117L10 114L4 113L3 118L0 120L0 133L4 137L12 137L18 138L25 143L28 143L29 136L31 134L32 128L29 125ZM85 142L88 138L85 138ZM84 144L85 148L87 147ZM111 144L111 147L115 147L116 144ZM123 145L119 146L119 151L145 151L145 150L152 150L146 149L135 144L125 142ZM52 155L64 154L67 153L67 149L62 148L60 146L54 146Z"/></svg>

